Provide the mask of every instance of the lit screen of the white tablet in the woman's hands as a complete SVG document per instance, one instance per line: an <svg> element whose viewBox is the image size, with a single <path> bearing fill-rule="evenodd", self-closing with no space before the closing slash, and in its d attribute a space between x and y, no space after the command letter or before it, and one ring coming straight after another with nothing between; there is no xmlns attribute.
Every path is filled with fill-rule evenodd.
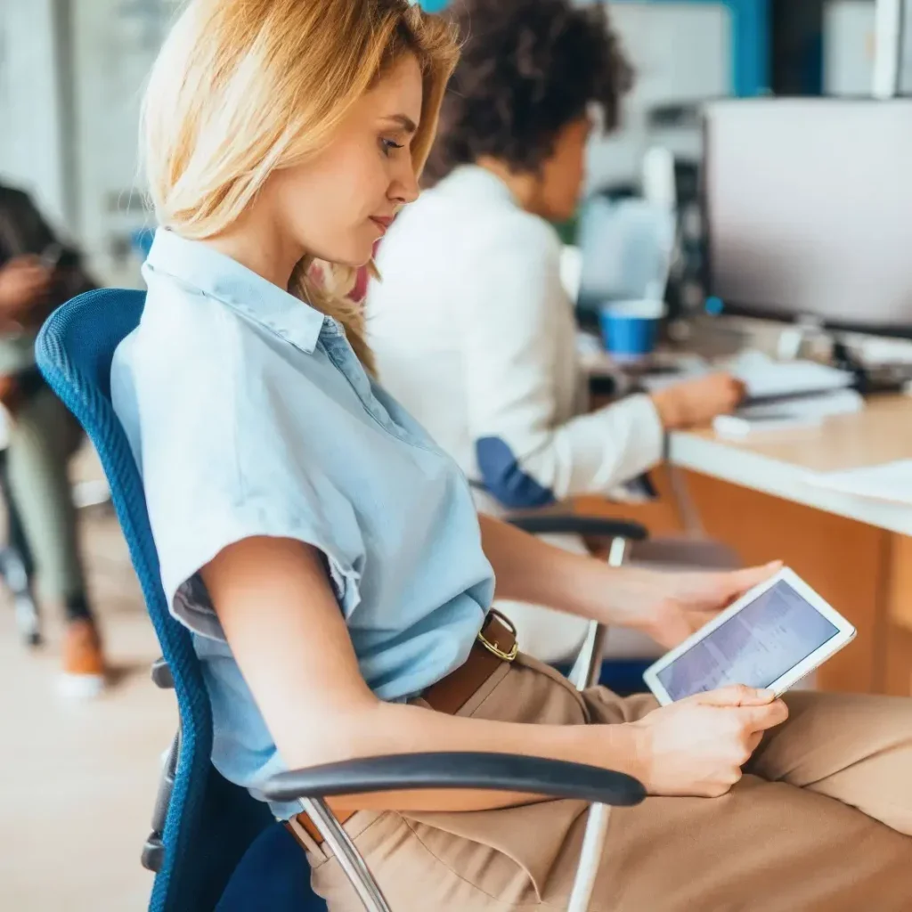
<svg viewBox="0 0 912 912"><path fill-rule="evenodd" d="M785 580L658 672L672 700L747 684L767 688L839 633Z"/></svg>

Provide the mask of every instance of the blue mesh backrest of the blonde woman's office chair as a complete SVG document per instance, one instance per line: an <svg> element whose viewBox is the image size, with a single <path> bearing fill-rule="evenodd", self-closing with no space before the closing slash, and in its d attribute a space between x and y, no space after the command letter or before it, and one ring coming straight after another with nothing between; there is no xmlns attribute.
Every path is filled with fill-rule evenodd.
<svg viewBox="0 0 912 912"><path fill-rule="evenodd" d="M47 382L98 451L152 625L174 680L181 747L162 832L164 856L155 877L150 910L202 912L216 907L235 867L257 836L263 834L264 839L268 837L278 845L276 841L284 838L285 830L275 825L264 803L254 801L212 767L212 712L200 663L190 634L168 612L140 473L111 405L111 359L120 341L139 325L144 304L145 294L139 291L101 289L79 295L50 317L38 337L36 351ZM181 441L175 440L174 445L181 446ZM162 698L167 699L164 694ZM138 856L140 843L137 834ZM303 854L296 845L295 850L306 872ZM252 854L256 855L255 847Z"/></svg>

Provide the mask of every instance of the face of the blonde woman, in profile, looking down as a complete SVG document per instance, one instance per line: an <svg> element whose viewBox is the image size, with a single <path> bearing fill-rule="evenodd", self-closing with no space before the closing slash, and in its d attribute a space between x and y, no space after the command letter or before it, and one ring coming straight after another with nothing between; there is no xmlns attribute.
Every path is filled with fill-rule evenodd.
<svg viewBox="0 0 912 912"><path fill-rule="evenodd" d="M421 116L421 72L403 57L340 124L315 158L275 171L270 202L289 240L331 263L359 266L393 216L418 196L411 140Z"/></svg>

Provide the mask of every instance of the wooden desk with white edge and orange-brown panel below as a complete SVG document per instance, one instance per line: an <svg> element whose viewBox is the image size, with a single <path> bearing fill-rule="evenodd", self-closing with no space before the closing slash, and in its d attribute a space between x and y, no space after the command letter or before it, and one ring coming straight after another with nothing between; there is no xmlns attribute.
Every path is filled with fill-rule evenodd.
<svg viewBox="0 0 912 912"><path fill-rule="evenodd" d="M853 644L820 669L821 689L912 694L912 507L829 492L808 470L836 471L912 458L912 399L871 399L863 412L820 427L721 440L673 434L669 463L706 534L748 564L781 558L858 628ZM668 470L660 499L600 512L684 530ZM586 509L593 509L588 501Z"/></svg>

